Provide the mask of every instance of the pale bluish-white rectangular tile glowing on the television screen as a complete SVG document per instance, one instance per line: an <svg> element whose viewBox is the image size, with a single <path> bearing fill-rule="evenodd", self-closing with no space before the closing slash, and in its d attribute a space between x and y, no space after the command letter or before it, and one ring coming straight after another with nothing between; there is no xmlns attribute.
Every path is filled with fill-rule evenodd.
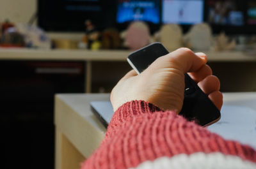
<svg viewBox="0 0 256 169"><path fill-rule="evenodd" d="M199 24L204 21L203 0L163 0L163 24Z"/></svg>

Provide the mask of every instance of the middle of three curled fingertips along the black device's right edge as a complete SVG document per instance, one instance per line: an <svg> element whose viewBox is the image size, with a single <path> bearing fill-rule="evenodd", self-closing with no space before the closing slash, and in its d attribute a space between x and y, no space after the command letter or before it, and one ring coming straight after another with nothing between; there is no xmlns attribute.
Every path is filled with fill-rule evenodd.
<svg viewBox="0 0 256 169"><path fill-rule="evenodd" d="M198 82L197 85L200 87L200 89L202 89L205 94L210 94L214 91L220 91L220 80L218 79L218 77L215 77L213 75L204 78L204 80Z"/></svg>

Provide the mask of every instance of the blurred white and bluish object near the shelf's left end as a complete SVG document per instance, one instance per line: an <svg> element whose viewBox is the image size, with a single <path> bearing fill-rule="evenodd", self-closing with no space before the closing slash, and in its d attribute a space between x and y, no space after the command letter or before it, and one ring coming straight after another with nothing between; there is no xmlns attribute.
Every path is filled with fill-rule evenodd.
<svg viewBox="0 0 256 169"><path fill-rule="evenodd" d="M51 40L45 32L37 26L18 24L17 31L24 36L28 48L51 48Z"/></svg>

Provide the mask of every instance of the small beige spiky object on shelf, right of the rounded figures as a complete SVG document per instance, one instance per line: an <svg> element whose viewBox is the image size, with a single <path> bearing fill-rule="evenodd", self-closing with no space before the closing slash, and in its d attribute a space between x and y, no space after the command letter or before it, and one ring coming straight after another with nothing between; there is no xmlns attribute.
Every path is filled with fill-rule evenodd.
<svg viewBox="0 0 256 169"><path fill-rule="evenodd" d="M215 43L213 47L214 51L233 50L236 48L236 40L229 40L225 33L220 33L220 35L216 37Z"/></svg>

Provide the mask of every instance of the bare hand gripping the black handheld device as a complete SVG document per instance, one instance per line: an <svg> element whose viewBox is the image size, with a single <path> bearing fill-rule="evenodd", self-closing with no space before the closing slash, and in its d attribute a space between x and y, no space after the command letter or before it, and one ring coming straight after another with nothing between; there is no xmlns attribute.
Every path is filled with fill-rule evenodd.
<svg viewBox="0 0 256 169"><path fill-rule="evenodd" d="M134 70L129 71L111 92L114 111L127 101L141 99L162 110L179 113L184 99L184 73L188 72L220 110L223 103L223 96L219 91L220 81L212 76L211 68L206 62L205 54L195 54L188 48L179 48L159 57L140 75Z"/></svg>

